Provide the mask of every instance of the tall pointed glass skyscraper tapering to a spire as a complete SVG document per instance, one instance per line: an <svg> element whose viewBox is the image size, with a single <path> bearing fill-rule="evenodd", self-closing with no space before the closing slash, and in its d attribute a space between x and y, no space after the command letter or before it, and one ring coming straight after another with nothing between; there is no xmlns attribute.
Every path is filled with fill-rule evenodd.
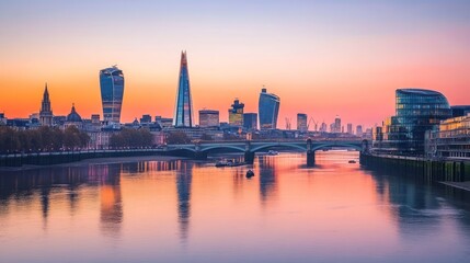
<svg viewBox="0 0 470 263"><path fill-rule="evenodd" d="M186 52L181 53L180 79L174 107L173 126L193 127L193 100L191 99L190 73Z"/></svg>

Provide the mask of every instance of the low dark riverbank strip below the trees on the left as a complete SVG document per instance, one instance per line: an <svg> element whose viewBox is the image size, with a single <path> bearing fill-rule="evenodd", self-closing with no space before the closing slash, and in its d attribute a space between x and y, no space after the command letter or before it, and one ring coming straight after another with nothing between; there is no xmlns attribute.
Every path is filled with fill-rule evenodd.
<svg viewBox="0 0 470 263"><path fill-rule="evenodd" d="M174 161L174 160L183 160L183 159L186 159L186 158L172 157L172 156L105 157L105 158L83 159L74 162L57 163L57 164L48 164L48 165L25 164L22 167L0 167L0 172L33 170L33 169L42 169L42 168L49 168L49 167L81 167L81 165L91 165L91 164L113 164L113 163L129 163L129 162L141 162L141 161Z"/></svg>

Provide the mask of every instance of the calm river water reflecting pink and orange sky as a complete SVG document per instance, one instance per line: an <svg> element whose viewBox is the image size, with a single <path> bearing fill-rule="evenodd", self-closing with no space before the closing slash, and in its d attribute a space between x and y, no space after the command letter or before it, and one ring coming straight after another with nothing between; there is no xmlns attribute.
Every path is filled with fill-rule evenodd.
<svg viewBox="0 0 470 263"><path fill-rule="evenodd" d="M354 151L316 162L257 156L251 179L191 160L3 171L0 262L469 262L468 192Z"/></svg>

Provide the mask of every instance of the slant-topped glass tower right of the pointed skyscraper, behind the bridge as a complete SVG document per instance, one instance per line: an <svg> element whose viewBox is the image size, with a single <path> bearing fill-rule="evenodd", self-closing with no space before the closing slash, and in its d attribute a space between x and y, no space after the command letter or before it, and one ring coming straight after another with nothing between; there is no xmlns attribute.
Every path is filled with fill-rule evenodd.
<svg viewBox="0 0 470 263"><path fill-rule="evenodd" d="M279 114L280 100L273 93L267 93L263 87L260 93L257 111L260 114L261 129L275 129L277 126L277 115Z"/></svg>

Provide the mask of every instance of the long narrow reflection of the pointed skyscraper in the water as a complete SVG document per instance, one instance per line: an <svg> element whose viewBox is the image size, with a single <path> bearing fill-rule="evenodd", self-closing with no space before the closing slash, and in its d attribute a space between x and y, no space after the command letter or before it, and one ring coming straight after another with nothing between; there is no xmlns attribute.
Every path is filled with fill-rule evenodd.
<svg viewBox="0 0 470 263"><path fill-rule="evenodd" d="M193 163L183 163L176 174L177 191L177 221L180 239L186 241L191 218L191 182L193 179Z"/></svg>

